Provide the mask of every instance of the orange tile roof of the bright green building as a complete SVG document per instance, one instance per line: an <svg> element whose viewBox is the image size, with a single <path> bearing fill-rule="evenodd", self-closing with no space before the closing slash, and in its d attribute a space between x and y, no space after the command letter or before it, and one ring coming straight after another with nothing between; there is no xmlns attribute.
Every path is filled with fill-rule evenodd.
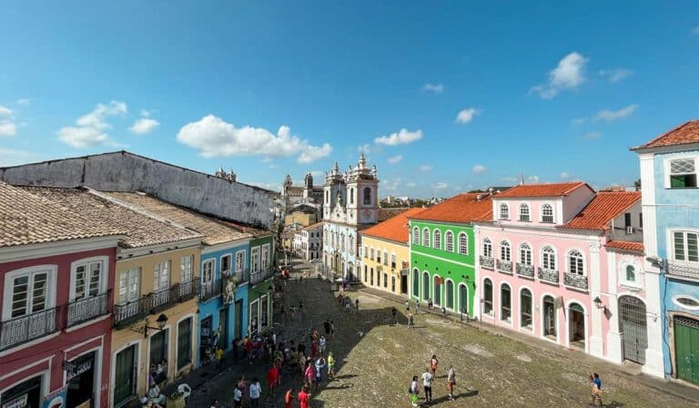
<svg viewBox="0 0 699 408"><path fill-rule="evenodd" d="M483 196L478 199L479 196ZM491 196L487 193L463 193L425 209L410 219L468 223L475 220L492 219Z"/></svg>

